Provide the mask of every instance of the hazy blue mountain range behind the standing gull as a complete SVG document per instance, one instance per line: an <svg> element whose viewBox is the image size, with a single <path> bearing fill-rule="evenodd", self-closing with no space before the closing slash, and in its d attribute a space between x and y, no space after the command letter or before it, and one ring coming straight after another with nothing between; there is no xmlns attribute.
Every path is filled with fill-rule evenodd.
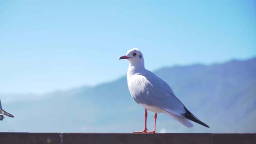
<svg viewBox="0 0 256 144"><path fill-rule="evenodd" d="M193 128L185 128L160 114L158 132L256 132L256 58L165 67L155 74L210 126L194 123ZM144 109L129 95L126 77L95 87L30 95L29 99L8 97L19 100L2 100L3 108L15 117L0 122L1 132L132 132L143 128ZM153 113L148 115L151 128Z"/></svg>

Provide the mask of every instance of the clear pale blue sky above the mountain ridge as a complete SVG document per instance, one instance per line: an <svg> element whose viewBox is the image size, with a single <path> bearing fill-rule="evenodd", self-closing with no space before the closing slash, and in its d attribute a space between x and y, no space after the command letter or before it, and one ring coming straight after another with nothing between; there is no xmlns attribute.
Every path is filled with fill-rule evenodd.
<svg viewBox="0 0 256 144"><path fill-rule="evenodd" d="M133 47L149 70L256 56L256 1L0 1L0 93L115 80Z"/></svg>

